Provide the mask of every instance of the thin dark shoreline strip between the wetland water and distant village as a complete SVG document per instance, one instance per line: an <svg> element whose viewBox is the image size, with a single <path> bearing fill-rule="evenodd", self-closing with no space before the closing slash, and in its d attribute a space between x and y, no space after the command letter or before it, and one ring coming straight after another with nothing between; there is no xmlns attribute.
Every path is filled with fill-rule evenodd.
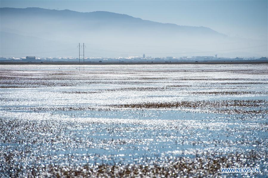
<svg viewBox="0 0 268 178"><path fill-rule="evenodd" d="M145 64L268 64L268 61L211 61L211 62L0 62L0 65L145 65Z"/></svg>

